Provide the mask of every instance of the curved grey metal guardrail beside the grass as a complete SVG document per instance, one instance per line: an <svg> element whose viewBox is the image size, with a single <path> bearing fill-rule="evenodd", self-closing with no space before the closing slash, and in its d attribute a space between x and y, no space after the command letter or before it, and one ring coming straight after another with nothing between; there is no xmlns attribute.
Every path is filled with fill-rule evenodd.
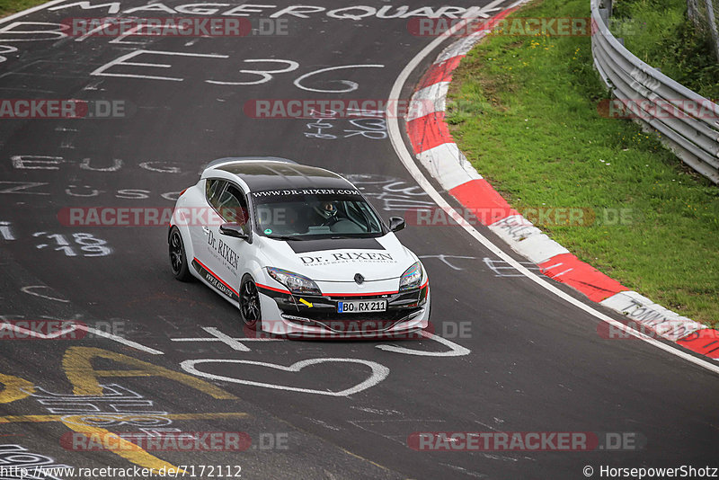
<svg viewBox="0 0 719 480"><path fill-rule="evenodd" d="M635 120L656 130L685 164L719 184L719 106L632 55L607 28L610 0L590 2L591 53L604 83L617 99L631 102ZM701 115L702 105L714 115Z"/></svg>

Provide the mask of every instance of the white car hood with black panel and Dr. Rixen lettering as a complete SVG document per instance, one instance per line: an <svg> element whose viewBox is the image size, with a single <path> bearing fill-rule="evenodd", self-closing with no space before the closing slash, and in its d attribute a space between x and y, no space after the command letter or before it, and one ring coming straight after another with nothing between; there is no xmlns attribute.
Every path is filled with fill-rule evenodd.
<svg viewBox="0 0 719 480"><path fill-rule="evenodd" d="M367 281L395 279L417 262L417 257L392 233L379 238L259 240L270 262L268 266L315 281L354 281L357 273Z"/></svg>

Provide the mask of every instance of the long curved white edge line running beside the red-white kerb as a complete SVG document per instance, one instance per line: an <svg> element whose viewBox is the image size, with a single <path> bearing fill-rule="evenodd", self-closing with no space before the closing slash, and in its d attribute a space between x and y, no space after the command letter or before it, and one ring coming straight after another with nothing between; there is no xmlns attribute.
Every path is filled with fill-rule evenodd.
<svg viewBox="0 0 719 480"><path fill-rule="evenodd" d="M510 7L522 3L524 3L524 0L519 0L518 2L515 2L514 4L510 5ZM457 222L457 224L459 224L460 227L463 227L469 235L475 237L475 239L480 244L483 244L487 250L500 257L503 261L509 263L512 267L522 273L529 280L534 281L535 283L537 283L537 285L544 289L547 289L551 293L555 294L557 297L562 298L567 303L572 304L574 307L580 308L584 312L598 318L602 322L606 322L607 324L612 325L620 331L629 333L636 338L639 338L644 342L650 343L663 351L667 351L670 354L676 355L681 359L688 360L699 367L719 374L719 365L716 365L715 363L706 360L699 359L693 355L689 355L684 351L680 351L679 349L674 348L673 346L670 346L666 343L654 340L651 337L645 335L644 333L639 333L634 329L627 327L625 324L622 324L621 322L618 322L617 320L611 318L610 316L606 316L603 313L590 307L589 305L586 305L581 300L573 298L568 293L565 293L561 289L556 288L548 281L540 278L537 274L533 273L532 271L529 271L527 267L522 265L520 262L514 260L508 253L505 253L500 247L493 244L488 238L479 233L479 231L475 227L466 222L466 220L462 218L462 216L457 212L457 210L453 209L449 205L448 201L439 194L439 191L437 191L431 184L431 182L427 180L427 177L424 176L424 173L422 173L420 167L415 164L412 154L409 152L406 145L404 144L402 132L399 127L399 120L397 119L397 106L396 103L393 102L393 99L400 98L400 95L402 94L402 87L404 86L414 69L420 65L422 60L429 56L435 49L437 49L439 45L443 41L447 40L448 37L450 37L455 31L464 28L467 22L470 21L458 22L451 29L446 31L443 35L439 36L435 40L432 40L429 45L422 49L417 55L414 56L414 58L410 60L410 62L406 66L404 66L404 69L402 70L402 72L400 72L399 76L397 76L395 84L392 86L392 90L389 93L386 111L387 132L389 134L389 139L392 142L392 147L395 148L395 152L402 164L404 164L404 167L409 171L409 173L412 174L414 180L422 187L422 189L426 191L428 195L430 195L431 199L434 200L440 208L447 211Z"/></svg>

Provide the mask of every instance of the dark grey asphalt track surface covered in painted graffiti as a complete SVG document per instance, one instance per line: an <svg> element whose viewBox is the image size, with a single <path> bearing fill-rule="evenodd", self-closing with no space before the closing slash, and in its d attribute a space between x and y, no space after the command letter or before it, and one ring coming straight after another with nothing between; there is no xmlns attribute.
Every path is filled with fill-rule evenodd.
<svg viewBox="0 0 719 480"><path fill-rule="evenodd" d="M141 4L123 2L122 9ZM328 10L352 5L312 4ZM250 18L266 18L282 6ZM58 22L69 16L106 14L102 9L44 9L16 21ZM386 99L409 59L432 38L411 35L406 19L352 21L324 13L284 18L288 18L288 35L244 38L165 37L119 44L102 37L11 42L3 40L18 37L0 35L0 45L17 49L0 64L3 98L122 100L131 113L125 119L0 122L0 221L7 222L0 236L0 315L72 319L110 329L146 347L143 351L98 335L80 340L0 341L0 374L5 376L5 389L0 391L0 443L75 467L163 462L238 465L244 478L583 478L582 467L587 465L595 471L601 465L704 467L714 462L716 467L719 382L715 373L645 342L602 338L596 317L502 268L493 253L459 227L408 227L398 234L424 257L431 278L431 322L435 333L449 343L250 341L238 346L176 340L213 338L210 332L241 338L244 332L238 313L216 293L200 282L173 280L164 227L61 225L58 211L65 207L172 207L168 193L196 182L201 166L222 156L285 156L345 173L386 218L413 206L431 205L387 138L357 133L377 129L376 119L332 120L324 133L336 138L316 138L311 134L317 128L308 124L317 120L256 120L244 114L243 106L253 99ZM91 75L136 49L227 58L142 56L130 61L172 67L108 70L174 76L182 82ZM404 85L404 98L433 58L434 54L425 58L413 72ZM247 59L291 60L298 67L262 84L206 82L252 82L257 75L239 70L289 65ZM308 92L293 83L303 74L346 65L384 67L328 72L302 82L337 89L346 85L332 80L347 79L358 85L351 93ZM22 159L13 162L17 156ZM45 157L34 160L49 163L32 163L31 156ZM486 228L477 228L502 246ZM110 253L87 256L107 251L83 251L78 241L96 241L73 236L81 233L104 240ZM387 348L393 346L409 351ZM153 349L158 354L149 352ZM437 355L422 354L427 352ZM447 354L452 352L462 354ZM110 358L99 358L102 354ZM186 376L172 379L166 371L164 376L142 371L123 375L118 370L138 367L118 361L122 359L117 354ZM89 363L83 363L89 357L93 357ZM198 359L239 360L197 368L266 385L207 380L182 369L183 361ZM294 372L276 368L312 359L375 362L388 369L388 375L374 385L362 384L372 379L371 370L356 361L316 360ZM93 374L92 369L105 371ZM137 418L135 424L128 423L128 413L117 416L111 402L92 397L99 393L93 390L97 385L116 385L116 390L137 397L117 402L115 410L141 417L137 412L161 413L147 413L145 423ZM357 385L366 388L349 396L328 395ZM29 396L32 386L34 394ZM66 397L53 404L47 392ZM104 391L106 396L110 393ZM122 402L126 406L118 406ZM133 402L134 406L127 406ZM244 431L253 439L253 448L149 451L147 457L63 448L60 440L72 431L68 424L74 421L66 417L63 422L62 414L94 407L96 412L116 413L115 423L105 425L108 431ZM37 417L17 417L53 414L42 422ZM149 426L148 418L164 420ZM122 421L126 423L117 423ZM80 423L92 422L84 417ZM589 452L415 451L407 439L418 431L632 432L643 445Z"/></svg>

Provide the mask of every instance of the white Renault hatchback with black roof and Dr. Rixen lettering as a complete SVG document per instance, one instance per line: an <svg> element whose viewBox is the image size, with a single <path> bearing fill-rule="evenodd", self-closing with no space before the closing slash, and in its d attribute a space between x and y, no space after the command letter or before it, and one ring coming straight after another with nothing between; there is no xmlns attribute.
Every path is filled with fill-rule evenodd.
<svg viewBox="0 0 719 480"><path fill-rule="evenodd" d="M276 157L221 158L177 200L176 279L195 277L253 330L288 336L413 333L430 319L422 262L342 176Z"/></svg>

